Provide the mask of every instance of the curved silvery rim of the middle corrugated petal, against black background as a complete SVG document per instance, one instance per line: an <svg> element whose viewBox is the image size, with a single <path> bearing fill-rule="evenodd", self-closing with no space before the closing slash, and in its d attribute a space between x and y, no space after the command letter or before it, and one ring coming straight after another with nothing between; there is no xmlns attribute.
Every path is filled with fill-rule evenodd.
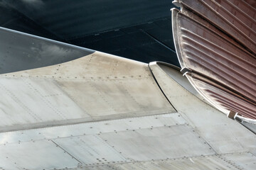
<svg viewBox="0 0 256 170"><path fill-rule="evenodd" d="M171 26L173 30L173 37L174 37L174 46L175 50L178 56L178 62L181 64L181 69L185 67L185 64L182 59L181 55L181 47L179 45L179 40L178 40L178 23L177 23L177 17L178 17L178 9L176 8L171 8Z"/></svg>

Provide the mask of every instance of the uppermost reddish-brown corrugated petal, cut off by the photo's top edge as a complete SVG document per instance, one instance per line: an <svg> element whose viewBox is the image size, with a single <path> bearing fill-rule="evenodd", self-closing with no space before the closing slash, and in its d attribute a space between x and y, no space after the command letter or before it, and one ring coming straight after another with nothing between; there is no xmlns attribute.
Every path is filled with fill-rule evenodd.
<svg viewBox="0 0 256 170"><path fill-rule="evenodd" d="M213 23L223 32L233 36L247 50L256 54L256 31L245 25L214 0L178 0L183 8L188 8ZM220 1L220 0L219 0ZM230 3L229 3L230 4ZM234 5L234 4L233 4ZM228 7L227 7L228 8ZM253 26L252 26L253 27Z"/></svg>

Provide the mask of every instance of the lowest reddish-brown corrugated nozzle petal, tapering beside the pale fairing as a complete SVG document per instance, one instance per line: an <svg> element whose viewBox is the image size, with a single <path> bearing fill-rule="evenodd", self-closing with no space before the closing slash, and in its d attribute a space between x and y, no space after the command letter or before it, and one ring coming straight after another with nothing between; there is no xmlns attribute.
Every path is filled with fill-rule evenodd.
<svg viewBox="0 0 256 170"><path fill-rule="evenodd" d="M203 78L198 74L186 74L186 77L191 84L211 103L217 107L224 108L227 111L240 113L243 116L251 119L256 119L256 105L250 101L245 100L241 96L215 84L210 79Z"/></svg>

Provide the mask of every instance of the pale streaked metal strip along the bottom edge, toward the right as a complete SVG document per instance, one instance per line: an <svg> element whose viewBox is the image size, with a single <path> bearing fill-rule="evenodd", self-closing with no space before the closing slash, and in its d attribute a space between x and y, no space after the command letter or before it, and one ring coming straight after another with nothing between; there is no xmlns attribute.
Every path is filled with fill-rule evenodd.
<svg viewBox="0 0 256 170"><path fill-rule="evenodd" d="M234 154L220 154L220 155L209 155L203 157L184 157L180 159L161 159L150 162L132 162L124 164L112 164L105 166L88 166L88 170L198 170L198 169L247 169L254 170L256 158L246 152L234 153ZM72 169L82 170L82 169Z"/></svg>

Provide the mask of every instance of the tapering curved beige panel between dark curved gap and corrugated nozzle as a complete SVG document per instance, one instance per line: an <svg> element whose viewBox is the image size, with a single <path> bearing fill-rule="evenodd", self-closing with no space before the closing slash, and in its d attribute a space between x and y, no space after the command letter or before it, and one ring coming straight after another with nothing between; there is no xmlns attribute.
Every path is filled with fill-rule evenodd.
<svg viewBox="0 0 256 170"><path fill-rule="evenodd" d="M182 84L178 84L169 76L169 69L172 68L162 69L156 62L150 63L149 67L174 108L215 152L247 152L256 148L255 134L189 93ZM181 79L186 77L181 75Z"/></svg>

